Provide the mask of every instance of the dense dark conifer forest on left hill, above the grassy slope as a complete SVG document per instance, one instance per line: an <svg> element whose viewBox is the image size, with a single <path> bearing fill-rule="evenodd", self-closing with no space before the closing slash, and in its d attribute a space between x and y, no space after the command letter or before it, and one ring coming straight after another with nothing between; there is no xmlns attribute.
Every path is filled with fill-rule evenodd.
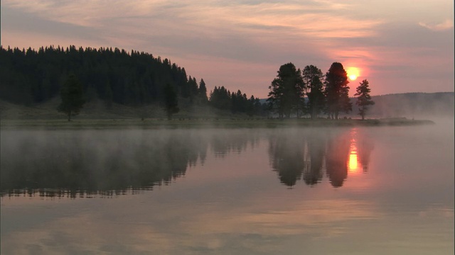
<svg viewBox="0 0 455 255"><path fill-rule="evenodd" d="M38 50L0 46L0 66L1 99L33 105L60 94L63 102L59 110L69 114L68 118L77 113L83 103L95 99L105 101L107 106L160 103L168 115L182 108L177 105L188 108L210 104L233 113L253 112L251 106L246 106L241 92L242 98L230 94L228 107L221 107L217 96L208 98L203 79L188 77L185 68L146 52L74 45ZM69 96L70 91L80 89L82 94ZM212 94L218 94L218 88ZM75 96L83 98L75 99ZM241 106L237 106L239 103Z"/></svg>

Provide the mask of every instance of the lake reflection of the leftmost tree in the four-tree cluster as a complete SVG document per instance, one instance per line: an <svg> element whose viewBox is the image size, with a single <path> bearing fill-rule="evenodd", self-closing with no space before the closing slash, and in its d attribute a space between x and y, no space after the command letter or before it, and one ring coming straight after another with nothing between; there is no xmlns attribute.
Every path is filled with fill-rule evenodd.
<svg viewBox="0 0 455 255"><path fill-rule="evenodd" d="M278 172L279 181L287 186L294 186L304 171L304 143L301 138L281 133L269 140L272 169Z"/></svg>

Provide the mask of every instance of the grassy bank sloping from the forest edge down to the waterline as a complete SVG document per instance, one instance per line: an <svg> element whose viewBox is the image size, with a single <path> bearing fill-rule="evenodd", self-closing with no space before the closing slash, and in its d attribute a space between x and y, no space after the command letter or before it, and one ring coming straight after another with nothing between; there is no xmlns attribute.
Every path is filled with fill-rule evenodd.
<svg viewBox="0 0 455 255"><path fill-rule="evenodd" d="M406 118L376 118L369 120L341 119L310 120L307 118L277 120L247 115L233 115L214 108L182 108L173 120L166 120L160 106L134 108L113 104L107 108L102 101L86 103L80 115L68 122L63 113L55 109L59 98L36 106L18 106L0 101L0 127L2 129L112 129L112 128L281 128L281 127L353 127L427 125L430 120ZM154 118L147 118L154 116ZM144 118L142 120L142 118Z"/></svg>

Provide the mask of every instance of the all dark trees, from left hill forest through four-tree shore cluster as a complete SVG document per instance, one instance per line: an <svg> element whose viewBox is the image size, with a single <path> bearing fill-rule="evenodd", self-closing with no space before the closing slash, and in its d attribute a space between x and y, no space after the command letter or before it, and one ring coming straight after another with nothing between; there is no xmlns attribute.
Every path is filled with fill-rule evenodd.
<svg viewBox="0 0 455 255"><path fill-rule="evenodd" d="M231 113L268 115L279 118L325 113L338 119L341 112L352 111L348 97L349 83L343 65L334 62L323 75L314 65L297 69L283 64L277 78L269 86L267 104L242 91L229 91L215 86L207 96L205 81L187 76L183 67L171 60L146 52L127 52L112 47L40 47L38 51L0 46L0 98L11 103L32 105L48 101L60 94L58 111L76 115L85 102L101 99L107 107L112 103L144 106L159 103L170 119L181 108L211 106ZM364 118L374 102L369 95L368 81L358 87L357 104Z"/></svg>

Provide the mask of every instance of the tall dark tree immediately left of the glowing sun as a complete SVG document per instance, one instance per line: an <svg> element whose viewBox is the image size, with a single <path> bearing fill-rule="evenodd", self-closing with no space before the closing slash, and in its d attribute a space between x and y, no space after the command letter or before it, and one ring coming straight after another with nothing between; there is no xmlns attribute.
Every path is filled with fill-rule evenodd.
<svg viewBox="0 0 455 255"><path fill-rule="evenodd" d="M348 75L343 64L333 62L326 73L326 112L330 118L338 120L341 111L352 111L352 103L349 99Z"/></svg>

